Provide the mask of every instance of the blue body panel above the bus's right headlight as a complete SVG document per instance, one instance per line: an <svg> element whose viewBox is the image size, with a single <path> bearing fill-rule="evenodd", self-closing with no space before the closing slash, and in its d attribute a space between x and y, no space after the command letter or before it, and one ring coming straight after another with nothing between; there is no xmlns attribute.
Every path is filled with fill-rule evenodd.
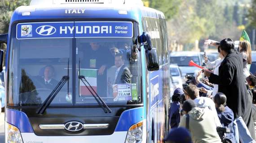
<svg viewBox="0 0 256 143"><path fill-rule="evenodd" d="M115 131L128 131L129 128L143 120L143 107L124 111L115 127Z"/></svg>

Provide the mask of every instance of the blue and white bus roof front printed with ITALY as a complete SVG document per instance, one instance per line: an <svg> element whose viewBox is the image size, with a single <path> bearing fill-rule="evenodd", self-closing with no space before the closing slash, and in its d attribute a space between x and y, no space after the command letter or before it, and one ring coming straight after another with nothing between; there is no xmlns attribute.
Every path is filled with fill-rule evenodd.
<svg viewBox="0 0 256 143"><path fill-rule="evenodd" d="M127 12L127 14L126 14ZM121 14L120 14L121 13ZM74 19L132 19L141 20L141 16L165 18L163 13L153 8L124 4L49 4L18 7L11 18L15 21L74 20Z"/></svg>

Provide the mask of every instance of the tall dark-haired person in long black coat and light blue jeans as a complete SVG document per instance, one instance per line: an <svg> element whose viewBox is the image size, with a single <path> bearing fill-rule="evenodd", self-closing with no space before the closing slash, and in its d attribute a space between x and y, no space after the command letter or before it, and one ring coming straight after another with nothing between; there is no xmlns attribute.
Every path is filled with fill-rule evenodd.
<svg viewBox="0 0 256 143"><path fill-rule="evenodd" d="M209 77L209 82L218 84L218 92L224 93L227 97L227 106L234 112L234 132L236 143L239 139L242 143L253 143L246 124L241 116L246 112L248 100L247 88L243 76L243 57L234 49L234 42L230 38L220 42L221 55L225 57L219 67L219 75L204 69L205 76ZM239 136L238 136L239 132ZM239 138L241 137L241 138Z"/></svg>

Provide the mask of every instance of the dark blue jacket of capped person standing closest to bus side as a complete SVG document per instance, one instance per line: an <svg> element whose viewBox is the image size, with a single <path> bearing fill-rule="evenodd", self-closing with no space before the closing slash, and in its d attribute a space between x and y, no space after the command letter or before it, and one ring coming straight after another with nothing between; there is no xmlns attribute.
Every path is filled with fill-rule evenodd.
<svg viewBox="0 0 256 143"><path fill-rule="evenodd" d="M168 118L169 118L169 125L171 128L177 128L180 123L181 115L180 111L180 103L174 101L169 109Z"/></svg>

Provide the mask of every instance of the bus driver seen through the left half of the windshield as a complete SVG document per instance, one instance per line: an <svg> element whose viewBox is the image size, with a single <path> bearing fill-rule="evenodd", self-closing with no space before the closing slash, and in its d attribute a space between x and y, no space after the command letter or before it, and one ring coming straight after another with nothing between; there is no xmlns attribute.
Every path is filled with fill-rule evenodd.
<svg viewBox="0 0 256 143"><path fill-rule="evenodd" d="M58 84L57 80L53 79L55 74L54 67L51 65L47 65L44 68L44 77L41 79L41 83L43 83L42 88L54 89Z"/></svg>

